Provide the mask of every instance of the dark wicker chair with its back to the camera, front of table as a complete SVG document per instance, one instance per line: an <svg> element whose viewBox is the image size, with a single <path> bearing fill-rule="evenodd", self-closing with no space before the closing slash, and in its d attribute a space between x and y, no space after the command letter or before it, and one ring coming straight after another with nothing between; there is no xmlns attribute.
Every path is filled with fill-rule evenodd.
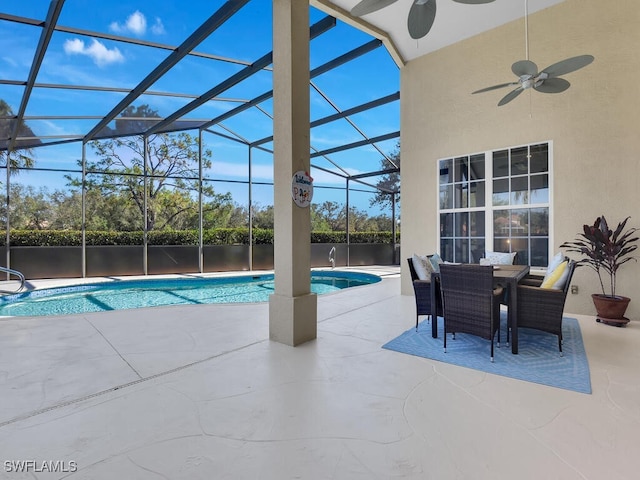
<svg viewBox="0 0 640 480"><path fill-rule="evenodd" d="M503 289L493 287L493 267L440 265L440 288L444 311L444 351L447 333L469 333L491 341L498 332L500 346L500 300Z"/></svg>

